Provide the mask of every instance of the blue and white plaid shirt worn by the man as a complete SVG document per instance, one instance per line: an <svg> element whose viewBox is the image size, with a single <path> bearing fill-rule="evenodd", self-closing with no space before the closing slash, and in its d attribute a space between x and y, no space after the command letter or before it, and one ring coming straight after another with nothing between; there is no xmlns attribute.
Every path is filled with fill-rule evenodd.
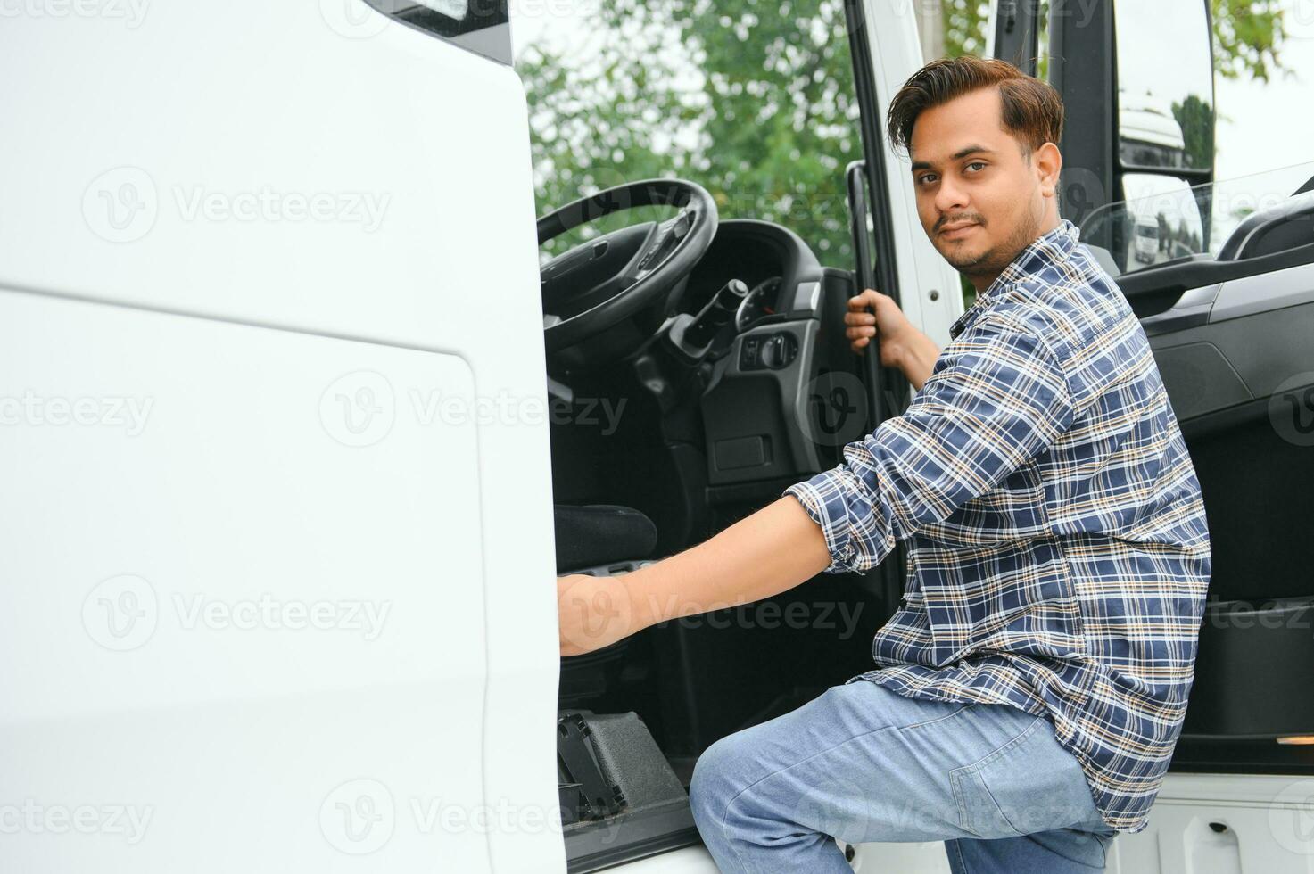
<svg viewBox="0 0 1314 874"><path fill-rule="evenodd" d="M903 415L784 494L821 526L827 573L907 541L907 593L862 678L1047 715L1104 820L1143 831L1210 574L1200 482L1150 344L1067 219L950 335Z"/></svg>

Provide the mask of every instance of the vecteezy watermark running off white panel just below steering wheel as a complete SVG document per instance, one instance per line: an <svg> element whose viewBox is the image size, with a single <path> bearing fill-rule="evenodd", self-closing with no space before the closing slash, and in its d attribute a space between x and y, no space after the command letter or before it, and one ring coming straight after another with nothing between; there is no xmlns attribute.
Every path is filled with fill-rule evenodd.
<svg viewBox="0 0 1314 874"><path fill-rule="evenodd" d="M350 447L373 446L386 438L399 414L420 427L465 425L576 425L599 427L611 436L620 426L628 398L524 397L507 390L472 397L439 389L407 389L398 393L388 377L374 371L355 371L334 380L319 396L319 422L334 440Z"/></svg>

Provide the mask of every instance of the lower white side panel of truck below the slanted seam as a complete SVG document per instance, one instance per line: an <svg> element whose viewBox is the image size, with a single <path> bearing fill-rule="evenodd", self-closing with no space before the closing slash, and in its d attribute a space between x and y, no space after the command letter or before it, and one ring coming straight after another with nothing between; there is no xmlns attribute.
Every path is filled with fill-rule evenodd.
<svg viewBox="0 0 1314 874"><path fill-rule="evenodd" d="M485 633L476 428L411 394L470 369L0 292L7 869L490 870L415 814L484 803Z"/></svg>

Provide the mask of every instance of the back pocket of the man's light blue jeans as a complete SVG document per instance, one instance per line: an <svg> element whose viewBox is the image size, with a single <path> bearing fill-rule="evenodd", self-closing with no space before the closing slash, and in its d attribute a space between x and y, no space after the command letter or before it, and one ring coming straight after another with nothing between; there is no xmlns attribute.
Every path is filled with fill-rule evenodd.
<svg viewBox="0 0 1314 874"><path fill-rule="evenodd" d="M1099 810L1076 757L1049 719L980 761L949 773L959 825L982 839L1018 837L1091 823Z"/></svg>

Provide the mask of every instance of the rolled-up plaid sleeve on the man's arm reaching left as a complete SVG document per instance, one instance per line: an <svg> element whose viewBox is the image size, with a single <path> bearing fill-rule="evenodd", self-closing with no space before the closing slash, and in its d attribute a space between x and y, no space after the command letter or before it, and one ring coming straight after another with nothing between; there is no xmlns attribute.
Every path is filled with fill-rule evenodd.
<svg viewBox="0 0 1314 874"><path fill-rule="evenodd" d="M865 572L1049 447L1072 423L1072 394L1039 335L978 318L936 360L903 415L844 447L844 463L796 482L821 527L825 573Z"/></svg>

